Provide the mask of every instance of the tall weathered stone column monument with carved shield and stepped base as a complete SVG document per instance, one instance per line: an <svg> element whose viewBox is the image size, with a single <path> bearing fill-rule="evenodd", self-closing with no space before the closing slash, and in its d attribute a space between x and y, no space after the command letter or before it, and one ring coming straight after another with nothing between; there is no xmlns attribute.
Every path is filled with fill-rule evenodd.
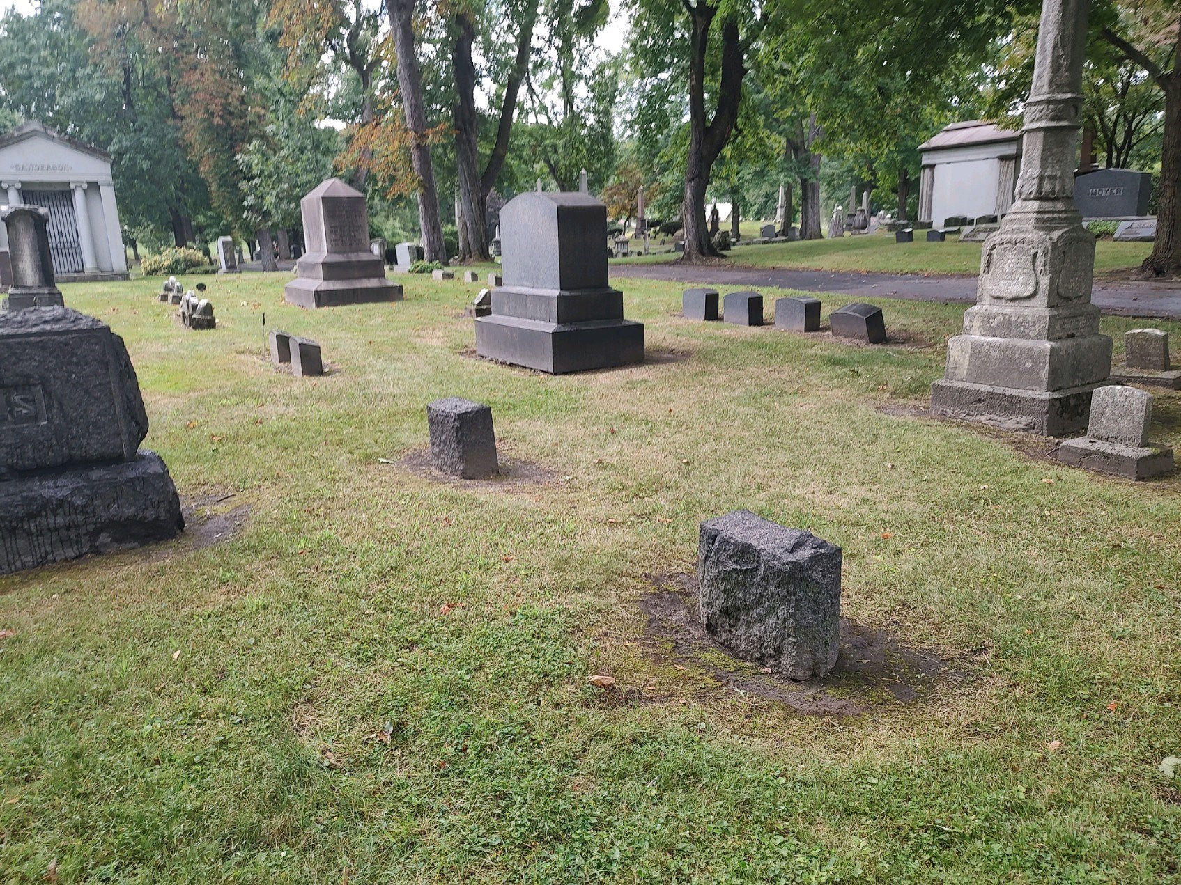
<svg viewBox="0 0 1181 885"><path fill-rule="evenodd" d="M1111 339L1091 304L1095 237L1074 204L1089 0L1044 0L1017 202L984 242L977 304L947 342L935 415L1058 437L1087 430Z"/></svg>

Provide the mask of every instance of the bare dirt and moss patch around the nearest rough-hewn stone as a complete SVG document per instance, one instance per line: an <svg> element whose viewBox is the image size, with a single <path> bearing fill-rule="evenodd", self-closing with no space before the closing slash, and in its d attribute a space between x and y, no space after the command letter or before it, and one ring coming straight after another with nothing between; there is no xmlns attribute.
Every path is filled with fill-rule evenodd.
<svg viewBox="0 0 1181 885"><path fill-rule="evenodd" d="M647 616L647 654L703 671L716 683L716 694L753 695L804 715L852 716L883 704L921 702L940 680L955 675L934 654L842 617L836 668L823 678L796 682L731 656L705 631L697 615L696 575L661 575L652 583L654 590L639 601Z"/></svg>

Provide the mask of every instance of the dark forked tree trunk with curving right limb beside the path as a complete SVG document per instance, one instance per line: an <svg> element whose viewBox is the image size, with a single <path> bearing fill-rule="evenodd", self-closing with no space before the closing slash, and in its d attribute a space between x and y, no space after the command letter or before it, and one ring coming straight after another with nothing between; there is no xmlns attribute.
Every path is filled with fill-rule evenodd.
<svg viewBox="0 0 1181 885"><path fill-rule="evenodd" d="M709 47L710 26L717 9L704 0L690 5L683 0L692 18L689 63L689 157L685 164L685 198L681 203L681 223L685 225L685 254L680 261L692 263L702 258L719 257L710 242L705 221L705 195L710 188L713 162L722 153L735 123L742 100L743 48L738 24L726 19L722 24L722 78L713 120L705 122L705 53Z"/></svg>

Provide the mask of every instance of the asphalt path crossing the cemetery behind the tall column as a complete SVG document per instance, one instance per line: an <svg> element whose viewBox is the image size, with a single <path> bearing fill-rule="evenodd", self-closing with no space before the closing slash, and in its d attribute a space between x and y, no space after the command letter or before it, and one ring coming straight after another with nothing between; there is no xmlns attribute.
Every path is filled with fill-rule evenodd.
<svg viewBox="0 0 1181 885"><path fill-rule="evenodd" d="M906 299L971 304L974 276L862 274L852 270L787 270L725 266L615 264L614 277L671 280L707 286L750 286L827 291L854 297ZM1096 280L1091 291L1104 314L1181 320L1181 284L1176 282L1110 282Z"/></svg>

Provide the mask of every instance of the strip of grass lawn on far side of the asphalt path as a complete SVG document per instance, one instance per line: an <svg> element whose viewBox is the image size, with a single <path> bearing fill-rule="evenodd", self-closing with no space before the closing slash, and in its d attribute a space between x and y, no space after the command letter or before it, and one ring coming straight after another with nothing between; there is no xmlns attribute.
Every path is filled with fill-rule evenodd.
<svg viewBox="0 0 1181 885"><path fill-rule="evenodd" d="M727 254L735 264L755 268L798 268L803 270L864 270L886 274L978 274L980 243L961 243L952 237L944 243L921 240L925 231L914 232L915 242L895 243L893 234L870 234L840 240L807 240L800 243L740 245ZM633 245L637 241L632 241ZM659 242L657 240L655 242ZM1095 273L1108 274L1133 268L1153 250L1151 243L1115 243L1100 240L1095 244ZM613 261L631 264L660 264L673 255L640 255Z"/></svg>

